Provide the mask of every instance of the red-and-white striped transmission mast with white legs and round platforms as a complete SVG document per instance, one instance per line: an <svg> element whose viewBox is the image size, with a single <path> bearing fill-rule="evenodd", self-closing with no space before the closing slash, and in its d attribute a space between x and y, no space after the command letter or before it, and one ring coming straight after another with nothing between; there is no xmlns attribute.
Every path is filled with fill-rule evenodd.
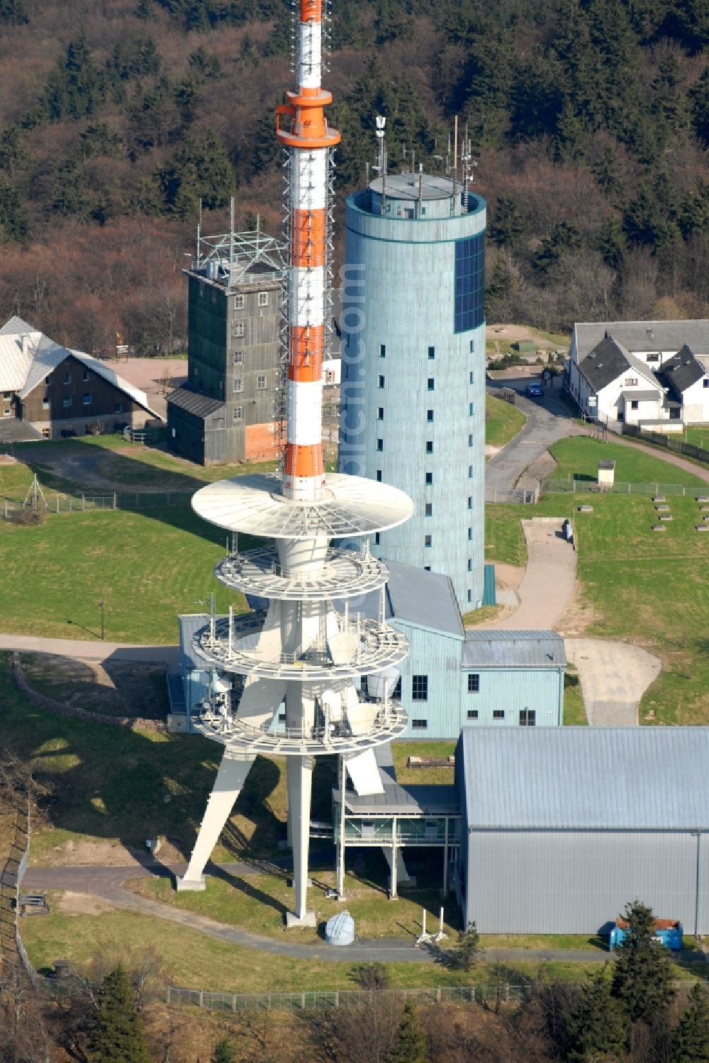
<svg viewBox="0 0 709 1063"><path fill-rule="evenodd" d="M235 591L268 609L213 617L195 636L208 667L231 673L232 690L207 699L195 724L224 745L187 871L178 890L204 889L203 872L257 754L286 757L288 827L293 851L294 911L289 926L314 925L307 911L307 856L314 758L339 755L360 794L382 793L374 747L401 735L406 716L391 699L395 665L408 644L389 627L386 567L369 536L412 512L410 499L364 477L325 474L322 361L330 305L332 152L339 142L320 86L323 0L300 0L298 89L277 107L276 136L288 155L288 379L286 445L277 475L255 474L202 488L192 508L232 533L257 536L216 568ZM332 539L361 537L360 552ZM351 617L349 603L378 590L378 615ZM337 612L333 600L343 603ZM394 669L394 673L392 673ZM384 677L359 690L360 676ZM285 704L285 726L276 719Z"/></svg>

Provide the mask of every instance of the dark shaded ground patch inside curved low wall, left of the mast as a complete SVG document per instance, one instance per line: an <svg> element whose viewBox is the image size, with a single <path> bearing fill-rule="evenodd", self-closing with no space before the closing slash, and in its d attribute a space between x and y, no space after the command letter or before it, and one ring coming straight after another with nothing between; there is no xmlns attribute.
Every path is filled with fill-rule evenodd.
<svg viewBox="0 0 709 1063"><path fill-rule="evenodd" d="M162 664L39 654L23 656L22 669L34 690L72 708L144 720L162 720L169 711Z"/></svg>

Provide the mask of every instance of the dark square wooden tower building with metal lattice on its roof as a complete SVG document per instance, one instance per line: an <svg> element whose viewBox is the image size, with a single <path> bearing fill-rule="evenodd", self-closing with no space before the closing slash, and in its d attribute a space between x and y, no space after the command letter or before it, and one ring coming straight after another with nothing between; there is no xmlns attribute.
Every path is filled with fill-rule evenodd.
<svg viewBox="0 0 709 1063"><path fill-rule="evenodd" d="M168 395L168 446L200 465L275 457L283 248L263 233L201 239L185 270L187 382Z"/></svg>

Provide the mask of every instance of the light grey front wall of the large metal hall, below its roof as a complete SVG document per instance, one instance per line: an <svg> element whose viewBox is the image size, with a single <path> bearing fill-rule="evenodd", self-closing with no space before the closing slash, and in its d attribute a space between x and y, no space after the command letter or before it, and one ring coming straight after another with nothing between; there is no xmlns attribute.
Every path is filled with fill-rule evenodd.
<svg viewBox="0 0 709 1063"><path fill-rule="evenodd" d="M709 932L702 836L699 933ZM480 933L595 933L636 898L695 932L697 838L631 831L473 831L467 918Z"/></svg>

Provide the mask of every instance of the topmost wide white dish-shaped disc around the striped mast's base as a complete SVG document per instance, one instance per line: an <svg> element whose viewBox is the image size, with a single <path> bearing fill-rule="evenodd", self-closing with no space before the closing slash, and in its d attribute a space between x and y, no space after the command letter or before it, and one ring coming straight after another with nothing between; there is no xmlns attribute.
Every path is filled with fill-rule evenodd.
<svg viewBox="0 0 709 1063"><path fill-rule="evenodd" d="M257 473L208 484L192 495L203 520L229 532L267 539L314 539L371 535L403 524L413 513L407 494L364 476L331 473L314 502L286 499L281 477Z"/></svg>

